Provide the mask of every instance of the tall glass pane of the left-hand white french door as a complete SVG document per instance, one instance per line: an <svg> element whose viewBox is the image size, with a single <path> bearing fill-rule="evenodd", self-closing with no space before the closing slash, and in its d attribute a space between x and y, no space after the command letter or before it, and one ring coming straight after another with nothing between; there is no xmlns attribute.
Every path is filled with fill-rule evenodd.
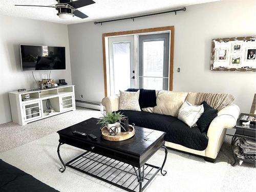
<svg viewBox="0 0 256 192"><path fill-rule="evenodd" d="M130 42L113 44L114 94L131 88Z"/></svg>

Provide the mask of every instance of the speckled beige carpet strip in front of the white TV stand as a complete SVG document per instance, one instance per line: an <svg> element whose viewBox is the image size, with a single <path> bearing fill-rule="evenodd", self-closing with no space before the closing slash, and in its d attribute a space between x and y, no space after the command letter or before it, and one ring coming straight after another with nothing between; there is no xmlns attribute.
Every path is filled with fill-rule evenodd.
<svg viewBox="0 0 256 192"><path fill-rule="evenodd" d="M47 136L70 125L91 117L101 117L102 112L84 108L52 116L39 121L19 125L9 122L0 124L0 153L30 141Z"/></svg>

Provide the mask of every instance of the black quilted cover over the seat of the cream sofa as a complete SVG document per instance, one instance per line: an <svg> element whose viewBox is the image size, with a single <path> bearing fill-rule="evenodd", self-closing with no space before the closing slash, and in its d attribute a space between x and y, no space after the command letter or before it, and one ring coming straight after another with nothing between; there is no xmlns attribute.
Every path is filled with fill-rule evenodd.
<svg viewBox="0 0 256 192"><path fill-rule="evenodd" d="M199 151L207 147L206 133L201 133L197 126L190 128L176 117L144 111L119 110L118 112L129 118L129 124L134 123L136 126L166 132L165 141Z"/></svg>

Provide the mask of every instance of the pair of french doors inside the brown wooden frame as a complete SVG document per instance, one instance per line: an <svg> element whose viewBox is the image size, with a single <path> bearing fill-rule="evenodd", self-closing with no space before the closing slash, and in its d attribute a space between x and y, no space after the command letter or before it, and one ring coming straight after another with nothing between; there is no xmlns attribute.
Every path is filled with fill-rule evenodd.
<svg viewBox="0 0 256 192"><path fill-rule="evenodd" d="M169 32L109 37L110 95L119 90L169 88Z"/></svg>

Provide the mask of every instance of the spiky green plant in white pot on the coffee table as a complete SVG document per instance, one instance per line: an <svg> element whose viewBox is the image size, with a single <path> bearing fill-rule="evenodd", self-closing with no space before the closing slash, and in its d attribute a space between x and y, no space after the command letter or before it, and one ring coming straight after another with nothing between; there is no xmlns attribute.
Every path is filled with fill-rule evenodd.
<svg viewBox="0 0 256 192"><path fill-rule="evenodd" d="M110 130L110 128L113 126L117 126L118 133L120 133L120 121L123 117L124 115L120 114L120 112L106 112L106 114L104 114L103 117L98 120L97 124L108 127L108 130Z"/></svg>

